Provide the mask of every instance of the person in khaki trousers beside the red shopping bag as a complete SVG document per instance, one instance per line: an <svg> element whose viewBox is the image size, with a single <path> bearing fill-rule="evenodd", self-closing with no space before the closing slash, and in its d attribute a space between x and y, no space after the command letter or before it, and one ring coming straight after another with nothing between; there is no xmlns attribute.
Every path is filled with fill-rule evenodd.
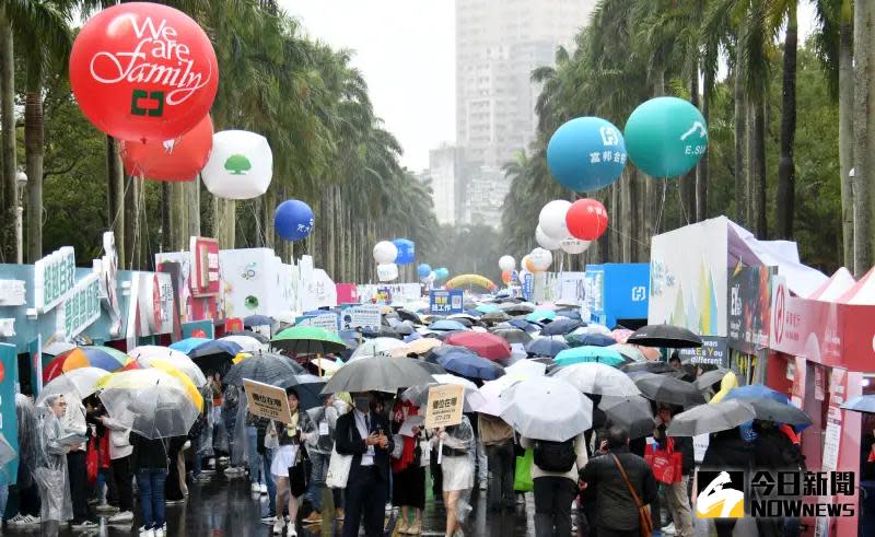
<svg viewBox="0 0 875 537"><path fill-rule="evenodd" d="M675 409L669 406L660 407L656 417L658 425L653 434L653 437L660 443L661 448L664 450L666 446L670 446L675 453L680 452L682 456L682 476L680 481L670 485L666 483L665 486L665 500L666 503L668 503L668 511L672 513L672 520L674 522L666 529L663 529L663 533L667 535L677 535L679 537L692 537L695 529L692 526L692 511L690 510L690 497L688 492L690 476L692 475L692 470L696 469L696 459L692 453L692 439L689 436L668 437L665 434L665 429L668 427L668 423L672 422L672 416L676 410L680 409ZM672 529L674 529L674 534Z"/></svg>

